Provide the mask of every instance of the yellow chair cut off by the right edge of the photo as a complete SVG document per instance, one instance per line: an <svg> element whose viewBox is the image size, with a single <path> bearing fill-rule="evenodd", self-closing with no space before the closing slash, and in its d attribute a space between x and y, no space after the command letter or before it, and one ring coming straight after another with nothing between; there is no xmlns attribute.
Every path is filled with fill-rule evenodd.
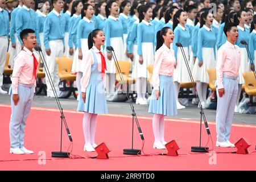
<svg viewBox="0 0 256 182"><path fill-rule="evenodd" d="M253 72L243 72L245 79L245 92L249 96L256 96L256 79Z"/></svg>

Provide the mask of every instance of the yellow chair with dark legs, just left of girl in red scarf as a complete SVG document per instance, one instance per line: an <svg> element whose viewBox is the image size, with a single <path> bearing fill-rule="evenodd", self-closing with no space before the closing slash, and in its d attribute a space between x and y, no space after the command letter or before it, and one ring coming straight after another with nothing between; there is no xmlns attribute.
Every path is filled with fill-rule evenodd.
<svg viewBox="0 0 256 182"><path fill-rule="evenodd" d="M61 91L69 91L67 94L68 98L73 93L73 96L76 96L77 88L73 87L73 81L76 80L76 75L71 73L73 60L69 57L56 57L56 62L58 65L58 75L60 77L60 82L63 82L63 87L60 88ZM69 86L67 86L67 81L69 81Z"/></svg>

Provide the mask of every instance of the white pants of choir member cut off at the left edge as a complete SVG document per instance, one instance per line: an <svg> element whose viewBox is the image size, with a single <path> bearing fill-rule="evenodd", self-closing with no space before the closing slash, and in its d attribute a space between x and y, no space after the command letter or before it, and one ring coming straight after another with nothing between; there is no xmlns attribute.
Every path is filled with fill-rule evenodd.
<svg viewBox="0 0 256 182"><path fill-rule="evenodd" d="M3 71L5 71L7 49L8 49L7 36L0 36L0 88L3 85Z"/></svg>

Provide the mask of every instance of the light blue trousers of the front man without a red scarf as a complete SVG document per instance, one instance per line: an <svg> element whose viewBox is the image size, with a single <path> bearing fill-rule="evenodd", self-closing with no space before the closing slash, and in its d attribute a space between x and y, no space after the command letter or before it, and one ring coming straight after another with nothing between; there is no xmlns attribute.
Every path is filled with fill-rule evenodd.
<svg viewBox="0 0 256 182"><path fill-rule="evenodd" d="M218 142L225 142L230 138L234 107L236 106L238 94L237 77L224 75L223 86L225 94L222 97L219 96L217 88L216 130Z"/></svg>

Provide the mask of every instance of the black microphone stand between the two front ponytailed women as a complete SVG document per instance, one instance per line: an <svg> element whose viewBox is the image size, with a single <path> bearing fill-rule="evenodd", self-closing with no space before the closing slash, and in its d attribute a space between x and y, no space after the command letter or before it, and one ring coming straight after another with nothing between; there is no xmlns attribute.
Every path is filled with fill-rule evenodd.
<svg viewBox="0 0 256 182"><path fill-rule="evenodd" d="M143 133L142 133L142 130L141 130L141 126L139 125L139 121L138 121L138 118L137 118L137 114L135 113L133 103L130 100L129 92L128 92L127 87L126 87L125 80L123 79L121 68L119 67L119 64L118 64L118 61L117 61L117 57L115 56L114 49L111 46L107 47L107 49L112 53L112 56L113 56L113 59L114 59L114 63L115 63L115 67L117 68L117 71L118 71L118 73L119 73L119 75L121 77L122 82L125 84L124 88L125 88L126 96L127 96L128 101L129 101L129 105L131 107L131 111L133 112L131 114L133 116L133 127L132 127L132 135L131 135L131 148L123 149L123 154L125 154L125 155L140 155L141 154L141 150L133 148L134 120L135 120L135 122L137 124L138 130L139 130L139 135L141 135L141 139L144 142L144 137L143 137Z"/></svg>

